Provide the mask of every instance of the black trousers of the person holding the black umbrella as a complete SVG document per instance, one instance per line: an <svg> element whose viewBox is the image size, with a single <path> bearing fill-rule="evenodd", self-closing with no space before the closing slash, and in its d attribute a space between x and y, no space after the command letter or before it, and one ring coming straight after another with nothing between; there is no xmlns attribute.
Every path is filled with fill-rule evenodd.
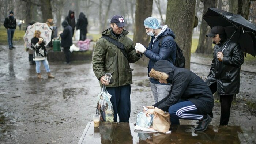
<svg viewBox="0 0 256 144"><path fill-rule="evenodd" d="M219 125L227 125L229 123L230 109L234 95L220 95L221 102L221 121Z"/></svg>

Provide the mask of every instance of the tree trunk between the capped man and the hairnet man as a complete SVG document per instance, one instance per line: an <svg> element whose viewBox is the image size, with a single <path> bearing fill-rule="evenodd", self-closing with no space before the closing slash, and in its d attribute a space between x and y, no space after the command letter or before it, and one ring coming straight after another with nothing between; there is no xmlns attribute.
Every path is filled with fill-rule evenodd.
<svg viewBox="0 0 256 144"><path fill-rule="evenodd" d="M139 42L144 46L148 46L150 37L146 33L144 20L151 16L152 4L153 0L136 0L134 43ZM140 62L147 64L148 58L144 56L140 59Z"/></svg>

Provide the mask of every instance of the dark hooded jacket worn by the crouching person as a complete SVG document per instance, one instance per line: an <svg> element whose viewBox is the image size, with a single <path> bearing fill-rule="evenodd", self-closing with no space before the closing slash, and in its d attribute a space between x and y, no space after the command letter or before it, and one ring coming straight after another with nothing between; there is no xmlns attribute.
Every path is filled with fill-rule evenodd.
<svg viewBox="0 0 256 144"><path fill-rule="evenodd" d="M167 82L172 83L169 95L153 106L163 111L176 104L180 99L191 101L200 114L210 113L214 106L214 99L210 88L199 76L185 68L176 68L167 60L159 60L154 70L168 74Z"/></svg>

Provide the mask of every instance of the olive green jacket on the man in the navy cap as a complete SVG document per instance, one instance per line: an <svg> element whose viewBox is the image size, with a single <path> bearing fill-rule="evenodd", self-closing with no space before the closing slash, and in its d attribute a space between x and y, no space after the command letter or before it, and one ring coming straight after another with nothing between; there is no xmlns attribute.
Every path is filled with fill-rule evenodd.
<svg viewBox="0 0 256 144"><path fill-rule="evenodd" d="M103 31L102 35L110 35L111 38L116 39L117 37L111 34L112 28ZM118 41L124 44L125 52L127 53L128 60L113 43L110 43L105 38L100 38L96 43L93 53L93 72L98 80L105 75L110 73L112 75L111 84L106 87L118 87L127 84L132 84L132 71L130 63L134 63L142 58L142 54L137 54L133 46L133 41L126 35L129 32L123 30L120 34ZM102 87L102 84L100 82Z"/></svg>

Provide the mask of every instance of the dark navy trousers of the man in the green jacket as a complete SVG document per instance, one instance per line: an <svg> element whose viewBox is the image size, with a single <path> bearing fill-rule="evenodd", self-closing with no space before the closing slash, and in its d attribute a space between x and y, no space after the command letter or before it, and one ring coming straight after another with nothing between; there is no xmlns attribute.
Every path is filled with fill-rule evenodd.
<svg viewBox="0 0 256 144"><path fill-rule="evenodd" d="M107 87L107 91L112 95L110 101L114 109L114 122L117 122L117 114L119 122L129 122L131 113L131 85Z"/></svg>

